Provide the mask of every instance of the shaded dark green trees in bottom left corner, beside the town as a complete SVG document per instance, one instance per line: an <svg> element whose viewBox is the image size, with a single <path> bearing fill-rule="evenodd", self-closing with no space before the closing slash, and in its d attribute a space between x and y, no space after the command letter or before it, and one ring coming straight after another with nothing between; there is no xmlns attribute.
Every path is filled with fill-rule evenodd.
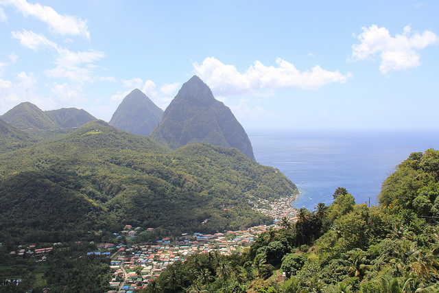
<svg viewBox="0 0 439 293"><path fill-rule="evenodd" d="M0 246L0 281L21 279L19 285L0 285L0 292L106 292L111 279L110 259L87 255L94 244L71 243L60 246L44 257L10 257Z"/></svg>

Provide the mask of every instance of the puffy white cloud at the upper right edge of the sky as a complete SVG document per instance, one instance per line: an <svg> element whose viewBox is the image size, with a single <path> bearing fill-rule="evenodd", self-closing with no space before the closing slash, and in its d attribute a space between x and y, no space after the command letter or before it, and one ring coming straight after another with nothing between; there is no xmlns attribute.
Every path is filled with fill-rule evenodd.
<svg viewBox="0 0 439 293"><path fill-rule="evenodd" d="M420 66L420 54L417 50L434 45L439 40L434 32L412 33L409 25L404 27L403 34L394 37L390 36L385 27L377 25L361 27L361 30L363 32L357 36L360 43L352 46L352 60L368 59L379 54L379 70L383 74Z"/></svg>

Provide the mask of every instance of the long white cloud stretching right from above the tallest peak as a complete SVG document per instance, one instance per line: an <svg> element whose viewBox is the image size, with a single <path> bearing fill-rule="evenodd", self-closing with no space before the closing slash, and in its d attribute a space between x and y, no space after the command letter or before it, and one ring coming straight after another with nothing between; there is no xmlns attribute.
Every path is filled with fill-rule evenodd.
<svg viewBox="0 0 439 293"><path fill-rule="evenodd" d="M239 73L234 65L225 65L215 57L204 59L201 65L193 62L196 74L209 84L217 95L257 93L280 88L318 89L333 82L344 83L351 73L327 71L316 65L311 71L299 71L292 63L276 59L277 67L265 66L256 60L245 73Z"/></svg>

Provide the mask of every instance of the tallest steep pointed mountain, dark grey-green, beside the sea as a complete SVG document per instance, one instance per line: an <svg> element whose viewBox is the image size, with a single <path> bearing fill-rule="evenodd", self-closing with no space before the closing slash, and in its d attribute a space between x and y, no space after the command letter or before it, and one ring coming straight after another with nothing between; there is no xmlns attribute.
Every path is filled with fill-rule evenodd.
<svg viewBox="0 0 439 293"><path fill-rule="evenodd" d="M196 75L183 84L151 137L174 149L191 143L237 148L254 160L252 145L244 128Z"/></svg>

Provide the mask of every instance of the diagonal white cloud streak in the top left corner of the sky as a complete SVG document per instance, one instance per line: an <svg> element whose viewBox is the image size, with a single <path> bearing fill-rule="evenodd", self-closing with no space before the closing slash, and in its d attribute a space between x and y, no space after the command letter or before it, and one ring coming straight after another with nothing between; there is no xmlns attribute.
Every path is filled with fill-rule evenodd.
<svg viewBox="0 0 439 293"><path fill-rule="evenodd" d="M14 6L23 16L34 16L49 25L50 29L62 36L85 36L90 39L87 22L71 15L61 15L49 6L31 4L25 0L3 0L1 3Z"/></svg>

